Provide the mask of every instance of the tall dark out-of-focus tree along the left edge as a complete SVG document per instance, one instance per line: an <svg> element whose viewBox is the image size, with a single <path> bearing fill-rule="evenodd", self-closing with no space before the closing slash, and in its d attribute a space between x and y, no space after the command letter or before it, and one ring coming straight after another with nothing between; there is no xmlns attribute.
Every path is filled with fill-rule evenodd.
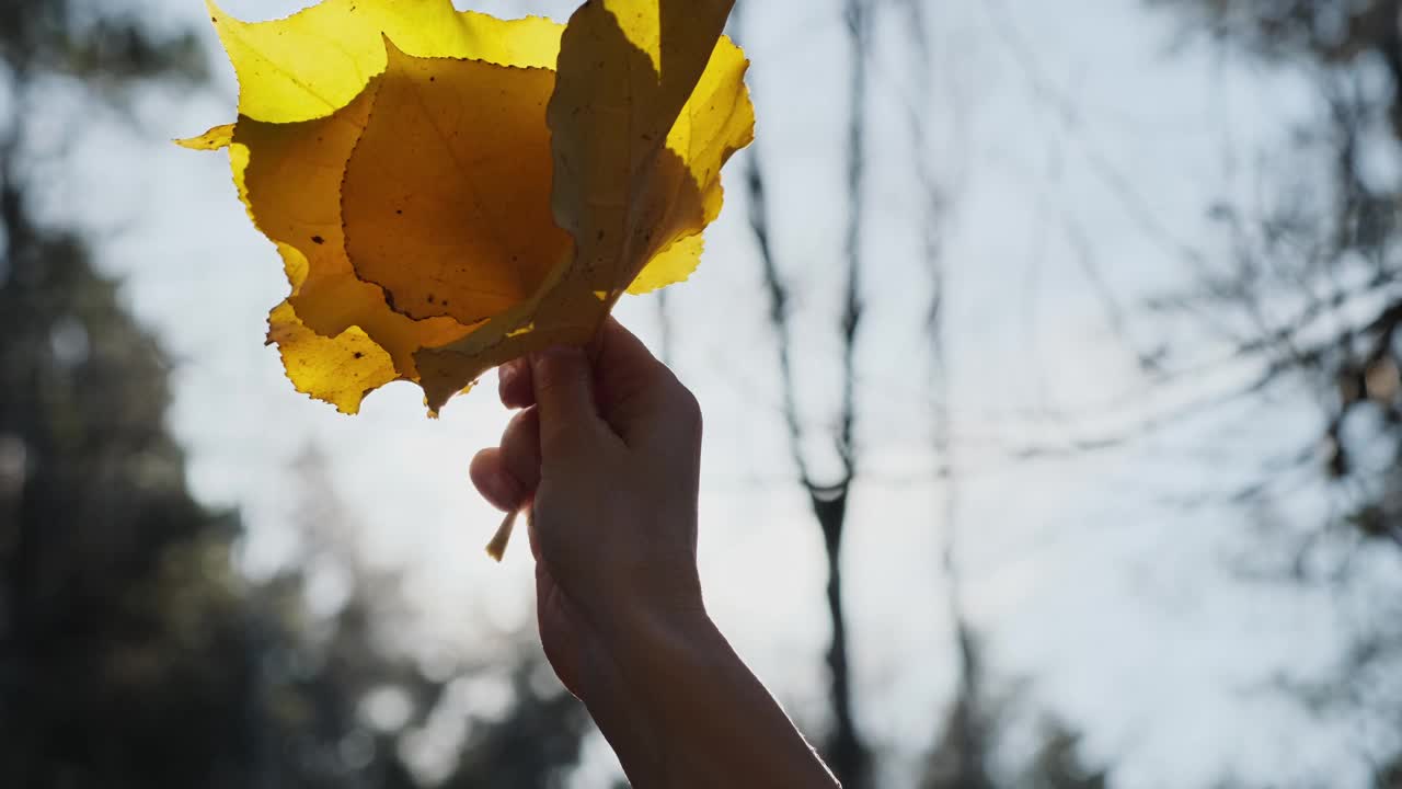
<svg viewBox="0 0 1402 789"><path fill-rule="evenodd" d="M0 783L245 785L237 519L191 500L164 357L83 241L36 225L24 181L42 76L198 72L189 38L77 15L0 8Z"/></svg>

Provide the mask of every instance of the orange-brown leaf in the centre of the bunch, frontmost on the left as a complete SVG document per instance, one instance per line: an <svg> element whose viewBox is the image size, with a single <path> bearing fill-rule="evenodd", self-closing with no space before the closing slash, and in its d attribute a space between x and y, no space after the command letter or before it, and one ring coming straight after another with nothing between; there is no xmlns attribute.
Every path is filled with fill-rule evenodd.
<svg viewBox="0 0 1402 789"><path fill-rule="evenodd" d="M414 319L472 324L530 299L572 248L550 213L554 72L390 45L380 80L342 185L356 274Z"/></svg>

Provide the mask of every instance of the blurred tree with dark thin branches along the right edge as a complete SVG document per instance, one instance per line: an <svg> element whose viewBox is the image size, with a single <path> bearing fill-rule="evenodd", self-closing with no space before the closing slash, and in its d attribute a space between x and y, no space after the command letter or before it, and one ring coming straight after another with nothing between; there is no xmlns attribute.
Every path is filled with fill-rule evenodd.
<svg viewBox="0 0 1402 789"><path fill-rule="evenodd" d="M1157 299L1211 314L1249 392L1304 383L1325 416L1319 460L1343 500L1333 525L1402 548L1402 1L1150 0L1190 31L1302 74L1321 112L1266 161L1259 205L1213 206L1225 265ZM1360 430L1356 430L1360 428Z"/></svg>

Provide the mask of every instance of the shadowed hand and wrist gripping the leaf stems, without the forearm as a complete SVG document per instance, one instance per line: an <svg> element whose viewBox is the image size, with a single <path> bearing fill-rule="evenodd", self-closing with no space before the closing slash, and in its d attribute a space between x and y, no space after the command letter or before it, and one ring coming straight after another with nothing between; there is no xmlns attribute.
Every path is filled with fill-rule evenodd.
<svg viewBox="0 0 1402 789"><path fill-rule="evenodd" d="M471 466L494 505L531 511L541 642L580 698L620 684L617 653L634 632L705 619L700 407L613 319L590 350L593 362L555 348L505 365L502 403L523 410Z"/></svg>

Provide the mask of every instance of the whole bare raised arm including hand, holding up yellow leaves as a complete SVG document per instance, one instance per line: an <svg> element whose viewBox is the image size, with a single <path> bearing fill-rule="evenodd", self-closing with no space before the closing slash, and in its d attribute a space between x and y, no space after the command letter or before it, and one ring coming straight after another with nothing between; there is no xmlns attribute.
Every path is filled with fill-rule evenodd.
<svg viewBox="0 0 1402 789"><path fill-rule="evenodd" d="M559 350L503 368L502 400L526 410L472 480L533 508L541 643L632 783L836 788L705 614L691 393L610 321L593 364Z"/></svg>

